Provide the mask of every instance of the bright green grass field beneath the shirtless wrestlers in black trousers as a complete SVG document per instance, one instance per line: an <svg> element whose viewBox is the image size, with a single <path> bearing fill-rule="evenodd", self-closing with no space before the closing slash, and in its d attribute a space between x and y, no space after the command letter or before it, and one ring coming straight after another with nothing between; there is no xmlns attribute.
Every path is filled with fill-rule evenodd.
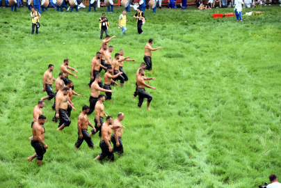
<svg viewBox="0 0 281 188"><path fill-rule="evenodd" d="M194 11L196 10L196 11ZM31 36L27 8L0 8L0 187L258 187L268 175L280 173L280 49L281 7L262 8L264 16L213 19L211 13L233 13L232 8L198 11L145 10L144 33L138 35L133 10L125 36L120 36L122 8L107 14L112 54L125 49L129 84L113 88L107 114L125 113L125 153L115 162L94 162L101 152L77 141L77 118L89 104L90 61L99 50L97 13L42 13L38 36ZM65 11L65 10L64 10ZM248 9L248 11L250 11ZM243 9L243 14L246 10ZM143 61L144 45L154 39L156 77L147 88L152 111L137 108L135 72ZM65 42L65 43L64 43ZM44 107L45 143L49 146L40 169L30 145L32 110L42 93L42 76L49 63L54 77L64 58L79 72L70 77L77 112L62 133L52 123L54 111ZM104 71L102 72L103 77ZM54 86L54 85L53 85ZM54 87L53 87L54 88ZM94 122L94 115L89 116Z"/></svg>

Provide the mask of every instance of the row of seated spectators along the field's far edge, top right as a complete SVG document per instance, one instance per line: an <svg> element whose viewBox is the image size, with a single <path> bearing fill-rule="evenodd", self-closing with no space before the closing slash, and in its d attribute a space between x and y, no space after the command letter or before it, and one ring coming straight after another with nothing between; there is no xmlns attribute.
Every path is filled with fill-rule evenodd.
<svg viewBox="0 0 281 188"><path fill-rule="evenodd" d="M272 3L277 4L278 1L280 2L281 6L281 0L243 0L241 1L243 4L243 8L255 8L255 6L259 5L259 8L262 8L262 6L271 6ZM196 5L200 10L207 10L211 8L232 8L235 7L238 3L237 0L196 0ZM217 6L216 6L217 5Z"/></svg>

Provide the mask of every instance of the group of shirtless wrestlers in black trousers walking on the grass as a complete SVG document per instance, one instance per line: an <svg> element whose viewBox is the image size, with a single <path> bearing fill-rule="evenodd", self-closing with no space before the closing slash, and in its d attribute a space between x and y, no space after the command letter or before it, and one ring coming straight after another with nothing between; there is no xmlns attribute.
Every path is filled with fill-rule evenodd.
<svg viewBox="0 0 281 188"><path fill-rule="evenodd" d="M111 87L119 86L120 89L126 89L126 84L128 84L129 78L124 70L125 61L136 62L134 59L131 59L130 56L124 56L124 49L118 50L118 53L112 55L113 46L109 45L109 42L115 38L115 36L110 37L106 36L102 40L102 44L99 47L99 51L95 53L91 61L90 66L90 81L88 87L90 88L89 94L89 105L84 105L79 107L79 104L75 104L75 107L79 107L80 115L77 122L77 132L78 138L77 142L74 144L75 149L78 149L83 141L85 140L88 143L90 148L95 148L95 144L91 139L91 136L99 134L101 140L99 142L99 147L102 149L102 152L95 157L97 159L104 159L108 157L109 161L114 161L114 152L118 152L119 155L123 153L123 144L122 136L123 130L125 127L122 125L122 120L125 118L125 113L117 112L113 115L117 115L114 119L113 116L109 116L106 113L106 109L110 108L113 105L113 91ZM158 48L152 48L153 40L150 38L148 43L145 45L145 56L143 60L145 62L140 63L140 67L136 70L136 91L133 95L133 98L138 96L138 108L143 104L145 98L147 99L147 110L150 109L150 102L152 101L152 95L145 91L145 87L156 89L149 84L149 81L155 79L154 77L145 77L145 70L152 70L152 51ZM72 62L75 65L75 63ZM90 63L89 63L90 64ZM55 79L53 77L53 72L56 71L58 77ZM104 70L104 73L102 73ZM102 81L102 76L103 81ZM69 127L72 120L70 116L73 111L77 111L74 107L74 95L82 97L79 94L79 91L74 91L74 81L70 80L70 76L73 79L79 78L78 70L70 66L70 60L65 58L59 71L54 65L49 64L47 71L43 75L43 92L46 92L45 97L40 98L38 104L35 105L33 109L33 120L31 123L32 136L29 137L31 140L31 146L33 146L35 153L28 158L29 162L36 157L38 164L42 165L42 159L46 152L46 149L49 148L45 143L45 120L46 116L43 115L43 107L45 107L45 100L52 100L54 98L54 104L52 109L54 109L55 114L52 118L53 122L58 123L58 132L63 131L65 127ZM86 86L86 80L83 80ZM120 83L118 83L120 81ZM147 81L147 84L145 83ZM53 82L55 85L56 93L53 91ZM125 84L126 83L126 84ZM104 94L101 94L104 92ZM104 101L109 100L106 107L104 106ZM126 102L126 97L122 99ZM95 115L91 115L95 111ZM51 117L50 117L51 118ZM93 125L91 122L95 123ZM92 130L88 132L88 126L92 127ZM113 130L113 132L112 132ZM111 146L113 143L113 147Z"/></svg>

